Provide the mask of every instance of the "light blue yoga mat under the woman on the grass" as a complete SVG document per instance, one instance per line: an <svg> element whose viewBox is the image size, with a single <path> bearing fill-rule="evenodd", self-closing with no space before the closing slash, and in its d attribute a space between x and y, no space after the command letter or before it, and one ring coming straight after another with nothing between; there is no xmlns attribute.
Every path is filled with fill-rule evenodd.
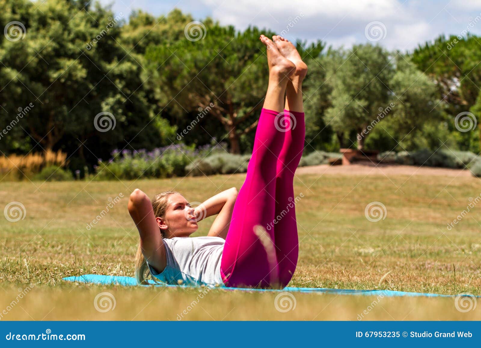
<svg viewBox="0 0 481 348"><path fill-rule="evenodd" d="M125 286L162 286L162 287L195 287L194 285L169 285L163 283L155 283L150 280L152 285L139 285L133 277L121 277L114 275L101 275L101 274L84 274L77 277L66 277L63 280L68 282L79 283L92 283L92 284L116 284ZM254 288L236 288L236 287L219 287L223 290L229 291L249 291L249 292L301 292L301 293L321 293L321 294L338 294L338 295L364 295L364 296L428 296L428 297L454 297L455 295L441 295L441 294L425 294L425 293L409 293L404 291L392 291L392 290L346 290L346 289L326 289L326 288L310 288L310 287L285 287L282 290L279 289L254 289ZM476 296L481 297L481 296Z"/></svg>

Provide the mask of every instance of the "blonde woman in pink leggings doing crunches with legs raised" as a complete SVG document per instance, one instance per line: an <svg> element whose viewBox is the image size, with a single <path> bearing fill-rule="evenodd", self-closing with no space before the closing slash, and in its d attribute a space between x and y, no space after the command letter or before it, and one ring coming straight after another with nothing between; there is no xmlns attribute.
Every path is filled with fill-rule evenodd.
<svg viewBox="0 0 481 348"><path fill-rule="evenodd" d="M146 272L169 284L282 288L290 282L299 251L293 178L304 149L307 66L290 41L272 39L260 37L269 83L239 193L231 188L195 208L177 192L152 201L139 189L130 195L128 211L140 234L139 283ZM207 236L190 237L198 221L215 214Z"/></svg>

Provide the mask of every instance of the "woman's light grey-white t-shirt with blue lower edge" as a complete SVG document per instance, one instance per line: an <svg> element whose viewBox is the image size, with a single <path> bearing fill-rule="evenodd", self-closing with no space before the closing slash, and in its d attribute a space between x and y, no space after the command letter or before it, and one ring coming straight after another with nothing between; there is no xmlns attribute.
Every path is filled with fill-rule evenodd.
<svg viewBox="0 0 481 348"><path fill-rule="evenodd" d="M226 242L221 237L163 238L167 266L158 273L147 262L152 276L167 284L225 286L220 275L220 261Z"/></svg>

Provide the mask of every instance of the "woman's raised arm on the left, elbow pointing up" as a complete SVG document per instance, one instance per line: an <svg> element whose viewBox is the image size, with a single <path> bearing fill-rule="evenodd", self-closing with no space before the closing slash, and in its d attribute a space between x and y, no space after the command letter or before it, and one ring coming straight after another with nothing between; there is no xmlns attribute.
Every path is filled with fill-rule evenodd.
<svg viewBox="0 0 481 348"><path fill-rule="evenodd" d="M128 212L139 230L144 258L161 273L167 266L167 256L162 234L153 213L152 202L147 194L135 189L128 200Z"/></svg>

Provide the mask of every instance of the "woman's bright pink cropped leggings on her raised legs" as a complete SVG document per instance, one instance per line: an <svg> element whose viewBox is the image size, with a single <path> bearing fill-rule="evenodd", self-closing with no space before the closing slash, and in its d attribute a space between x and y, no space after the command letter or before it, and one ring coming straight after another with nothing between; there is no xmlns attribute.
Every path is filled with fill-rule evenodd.
<svg viewBox="0 0 481 348"><path fill-rule="evenodd" d="M261 111L222 253L220 270L227 286L285 287L296 269L293 179L304 149L305 125L304 113L284 112L279 117L277 111ZM256 225L265 230L261 238L254 232Z"/></svg>

